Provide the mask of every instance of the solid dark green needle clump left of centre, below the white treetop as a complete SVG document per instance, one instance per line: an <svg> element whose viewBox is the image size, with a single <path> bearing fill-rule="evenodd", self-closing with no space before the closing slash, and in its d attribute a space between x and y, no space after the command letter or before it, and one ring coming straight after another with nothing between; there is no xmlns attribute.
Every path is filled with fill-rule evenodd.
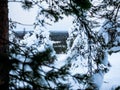
<svg viewBox="0 0 120 90"><path fill-rule="evenodd" d="M51 50L47 49L43 52L37 52L32 56L30 61L30 67L33 71L34 77L40 78L40 69L39 67L42 65L50 64L54 61L54 57L51 57Z"/></svg>

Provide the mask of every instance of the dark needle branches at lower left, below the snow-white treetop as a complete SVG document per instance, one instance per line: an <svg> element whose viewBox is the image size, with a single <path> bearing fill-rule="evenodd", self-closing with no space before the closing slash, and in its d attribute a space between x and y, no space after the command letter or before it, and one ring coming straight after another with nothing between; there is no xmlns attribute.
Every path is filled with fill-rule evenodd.
<svg viewBox="0 0 120 90"><path fill-rule="evenodd" d="M20 45L15 44L9 50L11 63L10 90L41 90L40 88L47 87L42 85L46 81L44 81L45 76L42 74L45 72L40 67L42 65L47 67L54 61L55 57L51 56L52 50L48 48L43 52L35 53L35 48L26 48L27 50L24 51ZM21 58L17 58L18 56ZM20 83L21 85L19 85Z"/></svg>

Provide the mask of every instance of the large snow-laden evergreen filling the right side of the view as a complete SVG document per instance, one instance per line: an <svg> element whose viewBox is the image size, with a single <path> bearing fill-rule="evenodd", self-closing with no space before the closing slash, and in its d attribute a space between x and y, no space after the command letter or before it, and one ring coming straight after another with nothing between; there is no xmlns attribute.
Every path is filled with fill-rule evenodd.
<svg viewBox="0 0 120 90"><path fill-rule="evenodd" d="M89 11L76 7L65 64L59 70L48 72L55 76L60 73L58 78L51 77L57 89L100 89L104 74L111 67L108 54L120 50L119 7L118 0L92 0Z"/></svg>

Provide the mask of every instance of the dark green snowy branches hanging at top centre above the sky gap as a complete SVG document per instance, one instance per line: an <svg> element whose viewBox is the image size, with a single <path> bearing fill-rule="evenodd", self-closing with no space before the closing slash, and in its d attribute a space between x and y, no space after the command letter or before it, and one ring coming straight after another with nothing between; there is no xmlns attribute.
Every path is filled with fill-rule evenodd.
<svg viewBox="0 0 120 90"><path fill-rule="evenodd" d="M41 1L44 2L44 1ZM91 8L92 4L89 0L53 0L49 1L46 0L46 4L48 5L48 8L42 8L41 12L38 13L37 17L40 17L41 15L45 15L45 17L53 22L57 22L60 19L63 19L63 15L66 16L80 16L83 14L83 11L86 11ZM41 8L40 8L41 9ZM44 20L38 20L40 24Z"/></svg>

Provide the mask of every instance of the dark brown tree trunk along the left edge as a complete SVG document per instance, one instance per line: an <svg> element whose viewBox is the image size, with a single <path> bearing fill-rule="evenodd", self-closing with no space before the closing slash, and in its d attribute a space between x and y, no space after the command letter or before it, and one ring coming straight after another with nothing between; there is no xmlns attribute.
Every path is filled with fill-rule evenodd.
<svg viewBox="0 0 120 90"><path fill-rule="evenodd" d="M0 90L9 90L8 0L0 0Z"/></svg>

